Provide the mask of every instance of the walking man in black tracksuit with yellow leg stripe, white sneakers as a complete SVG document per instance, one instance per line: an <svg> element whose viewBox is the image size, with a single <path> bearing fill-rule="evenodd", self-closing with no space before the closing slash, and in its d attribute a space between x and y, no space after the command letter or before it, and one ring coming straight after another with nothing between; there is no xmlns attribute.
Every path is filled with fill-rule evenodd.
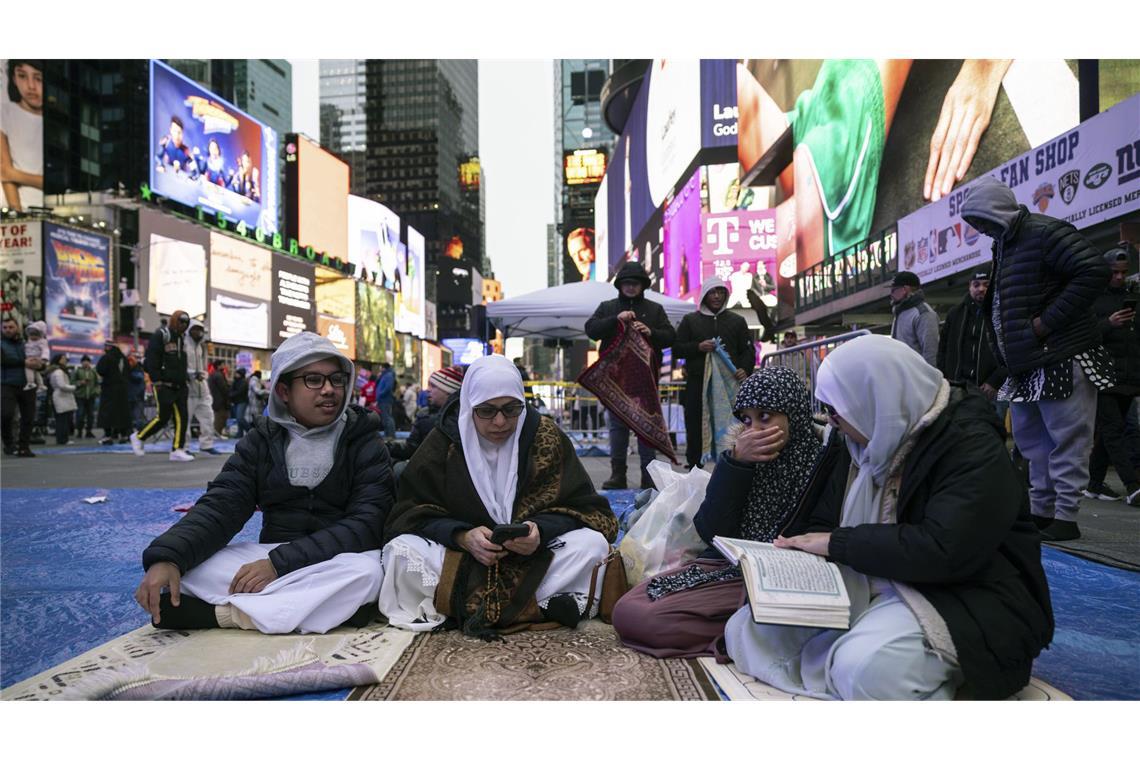
<svg viewBox="0 0 1140 760"><path fill-rule="evenodd" d="M150 376L154 394L158 398L158 416L131 433L131 449L135 456L146 453L142 443L156 435L168 423L174 423L174 448L171 461L193 461L194 455L186 450L186 433L190 420L188 414L189 387L186 384L186 346L182 335L190 326L190 317L185 311L170 316L165 327L160 327L150 336L146 346L142 366Z"/></svg>

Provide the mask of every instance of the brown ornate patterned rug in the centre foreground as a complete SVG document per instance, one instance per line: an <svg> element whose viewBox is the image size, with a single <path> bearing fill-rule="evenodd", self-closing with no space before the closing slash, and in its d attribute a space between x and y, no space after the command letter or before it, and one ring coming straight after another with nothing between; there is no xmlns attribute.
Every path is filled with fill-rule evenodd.
<svg viewBox="0 0 1140 760"><path fill-rule="evenodd" d="M718 700L695 661L627 649L600 621L481 641L420 635L381 683L350 700Z"/></svg>

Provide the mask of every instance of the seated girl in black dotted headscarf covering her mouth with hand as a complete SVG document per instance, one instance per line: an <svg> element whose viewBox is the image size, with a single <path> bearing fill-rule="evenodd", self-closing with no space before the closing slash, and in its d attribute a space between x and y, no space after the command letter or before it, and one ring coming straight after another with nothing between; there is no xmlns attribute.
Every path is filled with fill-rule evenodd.
<svg viewBox="0 0 1140 760"><path fill-rule="evenodd" d="M811 397L785 367L766 367L740 386L740 420L712 471L693 517L712 537L771 541L787 522L822 448L812 427ZM630 589L613 608L626 646L657 657L724 655L724 623L744 603L739 567L710 548L677 572Z"/></svg>

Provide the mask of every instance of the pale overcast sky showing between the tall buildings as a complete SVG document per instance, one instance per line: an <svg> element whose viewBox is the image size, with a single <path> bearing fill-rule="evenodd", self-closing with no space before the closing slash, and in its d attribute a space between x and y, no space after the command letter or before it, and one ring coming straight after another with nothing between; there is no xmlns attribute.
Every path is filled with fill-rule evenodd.
<svg viewBox="0 0 1140 760"><path fill-rule="evenodd" d="M319 66L293 65L293 129L320 138ZM487 253L506 297L546 287L546 226L554 222L553 62L479 62L479 153Z"/></svg>

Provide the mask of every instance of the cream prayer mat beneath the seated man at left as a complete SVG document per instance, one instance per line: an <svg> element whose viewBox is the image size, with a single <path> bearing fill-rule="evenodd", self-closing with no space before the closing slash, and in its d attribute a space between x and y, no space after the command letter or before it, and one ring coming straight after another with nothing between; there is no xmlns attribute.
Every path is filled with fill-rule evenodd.
<svg viewBox="0 0 1140 760"><path fill-rule="evenodd" d="M415 634L373 623L324 635L147 624L0 692L2 700L256 700L375 684Z"/></svg>

